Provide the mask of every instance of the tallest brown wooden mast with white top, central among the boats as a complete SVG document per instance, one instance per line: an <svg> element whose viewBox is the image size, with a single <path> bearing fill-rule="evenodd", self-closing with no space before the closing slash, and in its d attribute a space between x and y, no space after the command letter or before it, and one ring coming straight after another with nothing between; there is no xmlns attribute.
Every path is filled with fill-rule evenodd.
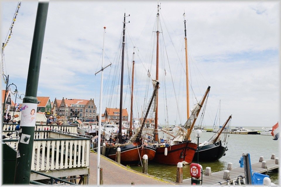
<svg viewBox="0 0 281 187"><path fill-rule="evenodd" d="M159 69L159 4L157 5L157 47L156 47L156 80L158 78ZM158 91L156 91L156 111L155 111L155 128L154 128L154 141L158 142Z"/></svg>

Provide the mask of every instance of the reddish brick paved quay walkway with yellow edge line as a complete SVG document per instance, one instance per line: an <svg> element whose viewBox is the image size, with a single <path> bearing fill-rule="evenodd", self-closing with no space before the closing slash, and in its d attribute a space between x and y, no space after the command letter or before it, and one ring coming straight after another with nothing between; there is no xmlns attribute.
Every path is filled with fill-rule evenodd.
<svg viewBox="0 0 281 187"><path fill-rule="evenodd" d="M155 176L140 173L119 164L103 155L100 156L104 185L174 185L171 181L164 181ZM90 152L90 179L89 185L97 184L97 154Z"/></svg>

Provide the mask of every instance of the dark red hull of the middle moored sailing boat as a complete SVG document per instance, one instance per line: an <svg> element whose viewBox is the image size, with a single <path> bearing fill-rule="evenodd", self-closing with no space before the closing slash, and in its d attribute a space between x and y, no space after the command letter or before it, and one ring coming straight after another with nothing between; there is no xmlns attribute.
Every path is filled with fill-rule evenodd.
<svg viewBox="0 0 281 187"><path fill-rule="evenodd" d="M180 144L167 147L168 152L165 156L165 147L156 147L156 154L153 161L162 164L177 164L182 161L192 162L197 149L197 144L191 142L183 142Z"/></svg>

